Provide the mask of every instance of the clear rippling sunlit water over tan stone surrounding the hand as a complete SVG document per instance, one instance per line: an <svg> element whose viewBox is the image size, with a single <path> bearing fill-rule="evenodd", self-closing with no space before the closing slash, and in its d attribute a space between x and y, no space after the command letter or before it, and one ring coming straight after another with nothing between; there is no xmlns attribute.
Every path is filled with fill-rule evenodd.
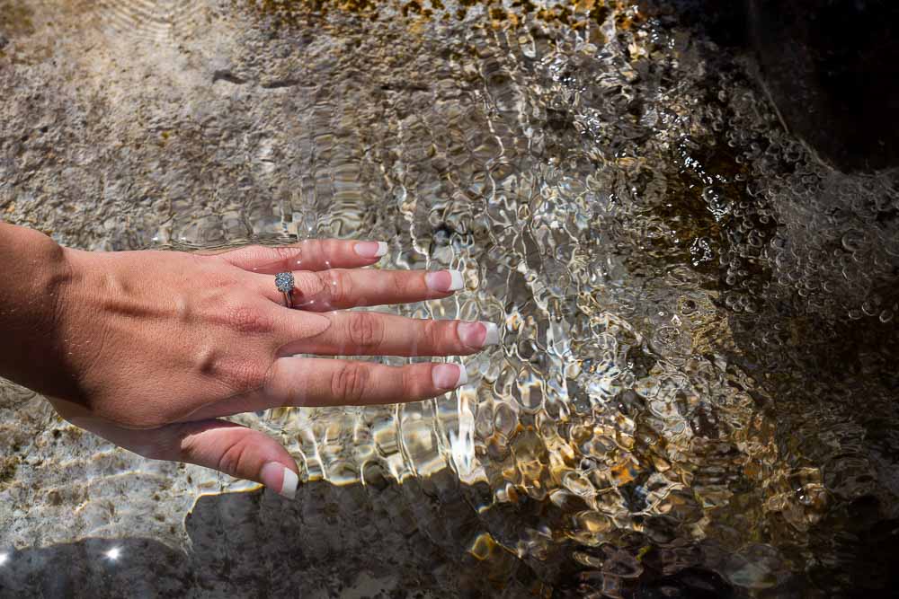
<svg viewBox="0 0 899 599"><path fill-rule="evenodd" d="M382 268L467 281L392 310L503 323L438 400L238 418L334 485L307 519L352 506L357 541L496 588L886 584L895 177L816 163L698 33L627 2L0 5L4 218L97 250L391 240ZM194 498L248 488L0 410L4 551L186 544Z"/></svg>

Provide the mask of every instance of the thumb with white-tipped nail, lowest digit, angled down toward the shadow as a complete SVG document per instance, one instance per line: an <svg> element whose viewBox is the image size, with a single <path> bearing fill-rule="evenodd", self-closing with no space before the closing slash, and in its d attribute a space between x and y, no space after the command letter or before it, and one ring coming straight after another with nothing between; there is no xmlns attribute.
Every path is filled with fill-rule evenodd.
<svg viewBox="0 0 899 599"><path fill-rule="evenodd" d="M254 480L286 498L294 498L297 492L297 463L287 450L270 436L234 422L200 420L132 429L100 418L70 421L150 459L193 463Z"/></svg>

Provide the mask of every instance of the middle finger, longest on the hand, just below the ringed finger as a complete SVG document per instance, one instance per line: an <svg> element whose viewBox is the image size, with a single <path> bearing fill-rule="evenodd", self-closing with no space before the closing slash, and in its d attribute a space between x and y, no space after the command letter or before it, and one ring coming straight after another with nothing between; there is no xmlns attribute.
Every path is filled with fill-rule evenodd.
<svg viewBox="0 0 899 599"><path fill-rule="evenodd" d="M297 327L307 326L309 314L282 313L297 321ZM493 322L434 321L374 312L335 312L325 317L331 326L315 336L291 340L279 354L468 356L500 340Z"/></svg>

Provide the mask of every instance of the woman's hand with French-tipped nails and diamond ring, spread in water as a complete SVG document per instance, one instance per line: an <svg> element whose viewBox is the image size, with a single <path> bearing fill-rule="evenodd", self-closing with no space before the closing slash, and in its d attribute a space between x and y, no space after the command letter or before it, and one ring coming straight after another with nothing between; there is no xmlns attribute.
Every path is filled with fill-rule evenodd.
<svg viewBox="0 0 899 599"><path fill-rule="evenodd" d="M293 497L297 465L259 431L218 418L280 406L419 401L467 381L451 364L293 357L468 355L496 326L341 312L451 295L459 273L360 269L386 244L308 241L216 255L67 250L49 396L116 445L256 480ZM293 271L294 308L274 275ZM48 365L43 365L48 366Z"/></svg>

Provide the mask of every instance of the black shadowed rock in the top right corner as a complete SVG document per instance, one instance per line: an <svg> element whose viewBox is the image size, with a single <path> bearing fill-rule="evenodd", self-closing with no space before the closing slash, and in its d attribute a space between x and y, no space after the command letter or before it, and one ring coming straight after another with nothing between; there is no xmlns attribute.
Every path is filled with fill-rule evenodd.
<svg viewBox="0 0 899 599"><path fill-rule="evenodd" d="M899 164L899 4L750 0L761 73L785 124L844 172Z"/></svg>

